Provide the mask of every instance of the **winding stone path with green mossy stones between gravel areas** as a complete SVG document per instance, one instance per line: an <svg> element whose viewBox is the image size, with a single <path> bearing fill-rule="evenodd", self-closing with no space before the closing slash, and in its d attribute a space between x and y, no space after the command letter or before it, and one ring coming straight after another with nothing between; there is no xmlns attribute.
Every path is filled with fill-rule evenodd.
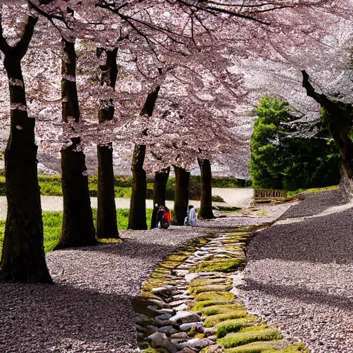
<svg viewBox="0 0 353 353"><path fill-rule="evenodd" d="M301 343L294 345L276 329L248 315L236 298L237 287L243 284L241 268L250 235L246 230L221 232L203 239L190 256L164 275L163 285L153 287L161 272L172 267L173 259L180 260L190 249L159 265L145 283L145 291L135 299L135 308L141 313L137 326L141 350L236 353L255 352L252 349L256 348L256 352L301 352Z"/></svg>

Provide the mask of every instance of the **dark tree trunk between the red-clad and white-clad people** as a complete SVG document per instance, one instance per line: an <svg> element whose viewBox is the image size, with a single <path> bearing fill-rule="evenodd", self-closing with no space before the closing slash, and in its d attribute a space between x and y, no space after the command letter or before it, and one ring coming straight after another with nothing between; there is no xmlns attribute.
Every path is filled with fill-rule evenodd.
<svg viewBox="0 0 353 353"><path fill-rule="evenodd" d="M190 172L174 165L175 196L174 196L174 223L183 225L188 212Z"/></svg>

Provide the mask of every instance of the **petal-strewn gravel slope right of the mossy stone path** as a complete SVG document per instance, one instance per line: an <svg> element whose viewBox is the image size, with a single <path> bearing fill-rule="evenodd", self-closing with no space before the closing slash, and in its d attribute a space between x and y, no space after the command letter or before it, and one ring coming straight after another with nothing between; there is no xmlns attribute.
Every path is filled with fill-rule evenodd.
<svg viewBox="0 0 353 353"><path fill-rule="evenodd" d="M352 216L339 190L307 194L248 250L248 310L315 353L353 352Z"/></svg>

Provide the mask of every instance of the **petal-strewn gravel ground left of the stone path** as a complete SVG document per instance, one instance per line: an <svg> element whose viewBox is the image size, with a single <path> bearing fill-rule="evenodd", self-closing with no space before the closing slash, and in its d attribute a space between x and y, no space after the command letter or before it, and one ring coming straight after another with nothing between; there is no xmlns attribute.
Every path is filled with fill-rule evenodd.
<svg viewBox="0 0 353 353"><path fill-rule="evenodd" d="M134 352L131 300L159 261L212 230L272 221L288 207L261 206L268 216L233 213L196 228L121 231L123 243L49 252L54 285L0 285L0 352Z"/></svg>

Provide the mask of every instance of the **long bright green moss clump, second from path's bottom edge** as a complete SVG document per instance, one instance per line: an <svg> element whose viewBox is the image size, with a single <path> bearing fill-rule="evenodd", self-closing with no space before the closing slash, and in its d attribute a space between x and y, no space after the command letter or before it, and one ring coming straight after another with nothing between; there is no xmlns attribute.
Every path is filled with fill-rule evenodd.
<svg viewBox="0 0 353 353"><path fill-rule="evenodd" d="M232 348L239 345L245 345L255 341L272 341L282 339L283 336L277 331L268 327L268 325L259 325L245 327L239 332L227 334L217 343L225 348Z"/></svg>

